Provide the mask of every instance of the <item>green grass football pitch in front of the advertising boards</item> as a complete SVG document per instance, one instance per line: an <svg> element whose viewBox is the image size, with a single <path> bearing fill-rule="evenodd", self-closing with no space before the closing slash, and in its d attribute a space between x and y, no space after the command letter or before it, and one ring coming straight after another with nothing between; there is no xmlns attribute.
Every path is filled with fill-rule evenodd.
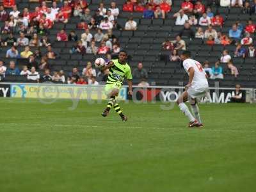
<svg viewBox="0 0 256 192"><path fill-rule="evenodd" d="M0 191L255 191L256 106L202 104L204 129L177 106L0 99ZM113 111L112 111L113 112Z"/></svg>

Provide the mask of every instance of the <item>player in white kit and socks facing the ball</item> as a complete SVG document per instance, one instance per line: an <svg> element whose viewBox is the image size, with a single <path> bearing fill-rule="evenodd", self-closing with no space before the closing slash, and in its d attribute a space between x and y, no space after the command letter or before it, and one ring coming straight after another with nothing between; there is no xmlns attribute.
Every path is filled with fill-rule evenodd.
<svg viewBox="0 0 256 192"><path fill-rule="evenodd" d="M196 98L204 97L208 91L207 74L204 72L202 65L192 60L190 51L182 52L180 58L183 61L183 67L188 73L189 81L186 85L185 91L177 100L180 110L189 118L189 127L203 127L199 108L196 104ZM189 101L191 110L195 116L191 114L188 106L184 102Z"/></svg>

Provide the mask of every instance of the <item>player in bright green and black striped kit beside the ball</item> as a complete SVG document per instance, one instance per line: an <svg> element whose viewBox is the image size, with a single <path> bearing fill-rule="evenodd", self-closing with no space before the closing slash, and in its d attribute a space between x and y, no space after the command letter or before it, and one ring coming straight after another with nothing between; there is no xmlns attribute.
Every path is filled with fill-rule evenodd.
<svg viewBox="0 0 256 192"><path fill-rule="evenodd" d="M113 107L122 120L127 121L127 116L123 114L120 106L116 102L116 97L118 96L119 90L122 88L124 78L128 81L128 94L132 95L132 74L131 68L127 64L127 52L120 51L118 59L109 61L108 65L102 68L102 71L107 68L109 68L109 75L105 91L109 100L108 106L103 111L102 116L108 116L110 109Z"/></svg>

